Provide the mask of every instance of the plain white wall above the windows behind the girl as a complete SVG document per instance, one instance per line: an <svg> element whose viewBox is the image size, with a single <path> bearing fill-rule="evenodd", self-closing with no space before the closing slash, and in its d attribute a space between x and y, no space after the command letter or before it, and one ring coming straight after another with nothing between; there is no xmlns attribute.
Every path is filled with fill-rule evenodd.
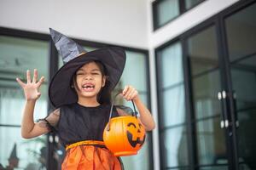
<svg viewBox="0 0 256 170"><path fill-rule="evenodd" d="M1 0L0 26L147 48L147 0Z"/></svg>

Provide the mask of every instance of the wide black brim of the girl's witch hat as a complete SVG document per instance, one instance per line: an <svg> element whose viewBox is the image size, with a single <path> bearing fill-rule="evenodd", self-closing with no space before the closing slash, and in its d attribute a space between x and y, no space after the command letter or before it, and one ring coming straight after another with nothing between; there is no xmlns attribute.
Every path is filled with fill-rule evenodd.
<svg viewBox="0 0 256 170"><path fill-rule="evenodd" d="M81 54L63 65L55 73L49 84L49 100L56 108L61 105L73 104L78 101L76 92L71 88L73 75L81 66L90 61L100 61L108 72L110 90L116 86L125 68L125 50L111 47L101 48Z"/></svg>

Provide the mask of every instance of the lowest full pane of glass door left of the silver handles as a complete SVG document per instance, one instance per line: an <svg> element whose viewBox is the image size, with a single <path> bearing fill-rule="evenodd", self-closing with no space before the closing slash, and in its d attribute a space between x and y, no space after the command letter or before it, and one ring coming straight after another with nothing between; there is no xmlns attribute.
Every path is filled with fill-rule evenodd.
<svg viewBox="0 0 256 170"><path fill-rule="evenodd" d="M199 164L227 163L224 129L219 122L218 117L196 123Z"/></svg>

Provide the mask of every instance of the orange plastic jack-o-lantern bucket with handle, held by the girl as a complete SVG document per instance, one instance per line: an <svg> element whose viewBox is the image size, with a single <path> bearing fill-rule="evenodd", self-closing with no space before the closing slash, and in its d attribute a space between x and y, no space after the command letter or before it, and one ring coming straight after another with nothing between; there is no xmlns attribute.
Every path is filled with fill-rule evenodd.
<svg viewBox="0 0 256 170"><path fill-rule="evenodd" d="M112 109L109 118L111 118ZM145 128L137 119L135 106L132 116L118 116L109 119L103 132L104 143L114 156L136 155L137 151L142 148L145 138Z"/></svg>

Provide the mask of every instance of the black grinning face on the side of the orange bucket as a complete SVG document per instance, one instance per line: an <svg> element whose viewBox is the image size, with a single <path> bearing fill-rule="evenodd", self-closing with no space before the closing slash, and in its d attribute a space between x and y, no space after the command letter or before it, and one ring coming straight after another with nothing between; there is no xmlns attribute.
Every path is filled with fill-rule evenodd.
<svg viewBox="0 0 256 170"><path fill-rule="evenodd" d="M142 146L146 139L145 130L142 123L129 122L127 124L127 139L131 146L135 148L137 144Z"/></svg>

